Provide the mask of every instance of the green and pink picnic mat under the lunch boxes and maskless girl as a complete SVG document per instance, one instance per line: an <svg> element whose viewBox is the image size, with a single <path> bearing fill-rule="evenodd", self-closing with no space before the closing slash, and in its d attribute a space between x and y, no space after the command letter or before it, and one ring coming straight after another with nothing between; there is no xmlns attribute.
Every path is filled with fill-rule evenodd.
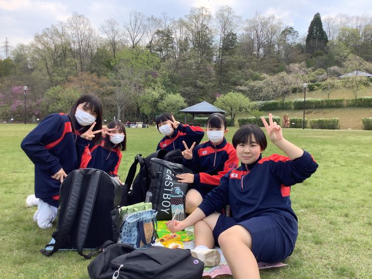
<svg viewBox="0 0 372 279"><path fill-rule="evenodd" d="M168 229L167 226L165 225L166 221L158 221L158 236L162 237L166 234L171 233ZM186 235L185 231L182 232L177 232L177 234L181 235L181 240L184 242L185 249L193 249L195 248L195 242L193 241L194 236L188 236ZM215 246L214 249L218 250L221 254L221 262L218 266L215 267L204 267L204 272L203 272L203 277L210 277L210 278L215 278L218 275L232 275L230 268L226 262L226 259L221 251L221 248L218 246ZM258 268L259 269L268 269L268 268L279 268L279 267L284 267L287 266L287 264L283 263L274 263L274 264L269 264L269 263L258 263Z"/></svg>

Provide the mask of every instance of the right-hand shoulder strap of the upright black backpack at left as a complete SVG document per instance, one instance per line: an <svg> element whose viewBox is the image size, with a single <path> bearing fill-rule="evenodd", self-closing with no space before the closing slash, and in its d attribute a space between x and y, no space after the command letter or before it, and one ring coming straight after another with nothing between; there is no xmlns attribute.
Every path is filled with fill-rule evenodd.
<svg viewBox="0 0 372 279"><path fill-rule="evenodd" d="M101 179L102 171L91 169L89 171L90 179L86 189L85 199L81 208L79 225L77 227L76 246L77 252L85 259L90 259L95 252L88 255L83 254L84 243L88 234L90 220L92 218L94 204L96 203L97 192L99 188L99 181Z"/></svg>

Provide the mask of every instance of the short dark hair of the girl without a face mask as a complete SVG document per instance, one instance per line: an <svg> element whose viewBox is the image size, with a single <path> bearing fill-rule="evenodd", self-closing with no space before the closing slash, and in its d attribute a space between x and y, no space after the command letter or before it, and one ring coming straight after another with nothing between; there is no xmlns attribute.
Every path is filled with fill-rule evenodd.
<svg viewBox="0 0 372 279"><path fill-rule="evenodd" d="M238 131L233 136L233 146L236 149L238 144L247 143L252 141L252 135L256 142L261 146L262 150L265 150L267 147L267 140L265 133L257 125L248 124L240 127Z"/></svg>

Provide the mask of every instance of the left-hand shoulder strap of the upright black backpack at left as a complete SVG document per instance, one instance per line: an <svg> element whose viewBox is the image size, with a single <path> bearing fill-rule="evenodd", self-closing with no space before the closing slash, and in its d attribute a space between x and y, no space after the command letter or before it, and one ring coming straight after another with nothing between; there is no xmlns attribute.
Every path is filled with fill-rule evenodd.
<svg viewBox="0 0 372 279"><path fill-rule="evenodd" d="M76 210L80 199L81 194L81 184L83 181L83 174L81 171L74 171L72 174L71 180L71 189L68 195L67 204L64 208L64 214L62 221L59 224L59 231L57 234L56 243L53 245L53 250L51 252L46 251L45 249L40 250L45 256L52 256L56 253L66 240L72 224L75 220ZM63 187L63 186L62 186Z"/></svg>

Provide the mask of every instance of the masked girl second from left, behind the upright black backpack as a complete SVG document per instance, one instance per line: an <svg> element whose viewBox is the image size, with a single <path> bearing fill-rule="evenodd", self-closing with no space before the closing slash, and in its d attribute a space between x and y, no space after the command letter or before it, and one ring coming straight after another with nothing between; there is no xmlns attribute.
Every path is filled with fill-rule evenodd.
<svg viewBox="0 0 372 279"><path fill-rule="evenodd" d="M100 144L84 152L80 168L95 168L103 170L113 177L118 177L118 170L122 160L122 151L126 149L125 126L122 122L111 121ZM120 181L120 179L119 179Z"/></svg>

